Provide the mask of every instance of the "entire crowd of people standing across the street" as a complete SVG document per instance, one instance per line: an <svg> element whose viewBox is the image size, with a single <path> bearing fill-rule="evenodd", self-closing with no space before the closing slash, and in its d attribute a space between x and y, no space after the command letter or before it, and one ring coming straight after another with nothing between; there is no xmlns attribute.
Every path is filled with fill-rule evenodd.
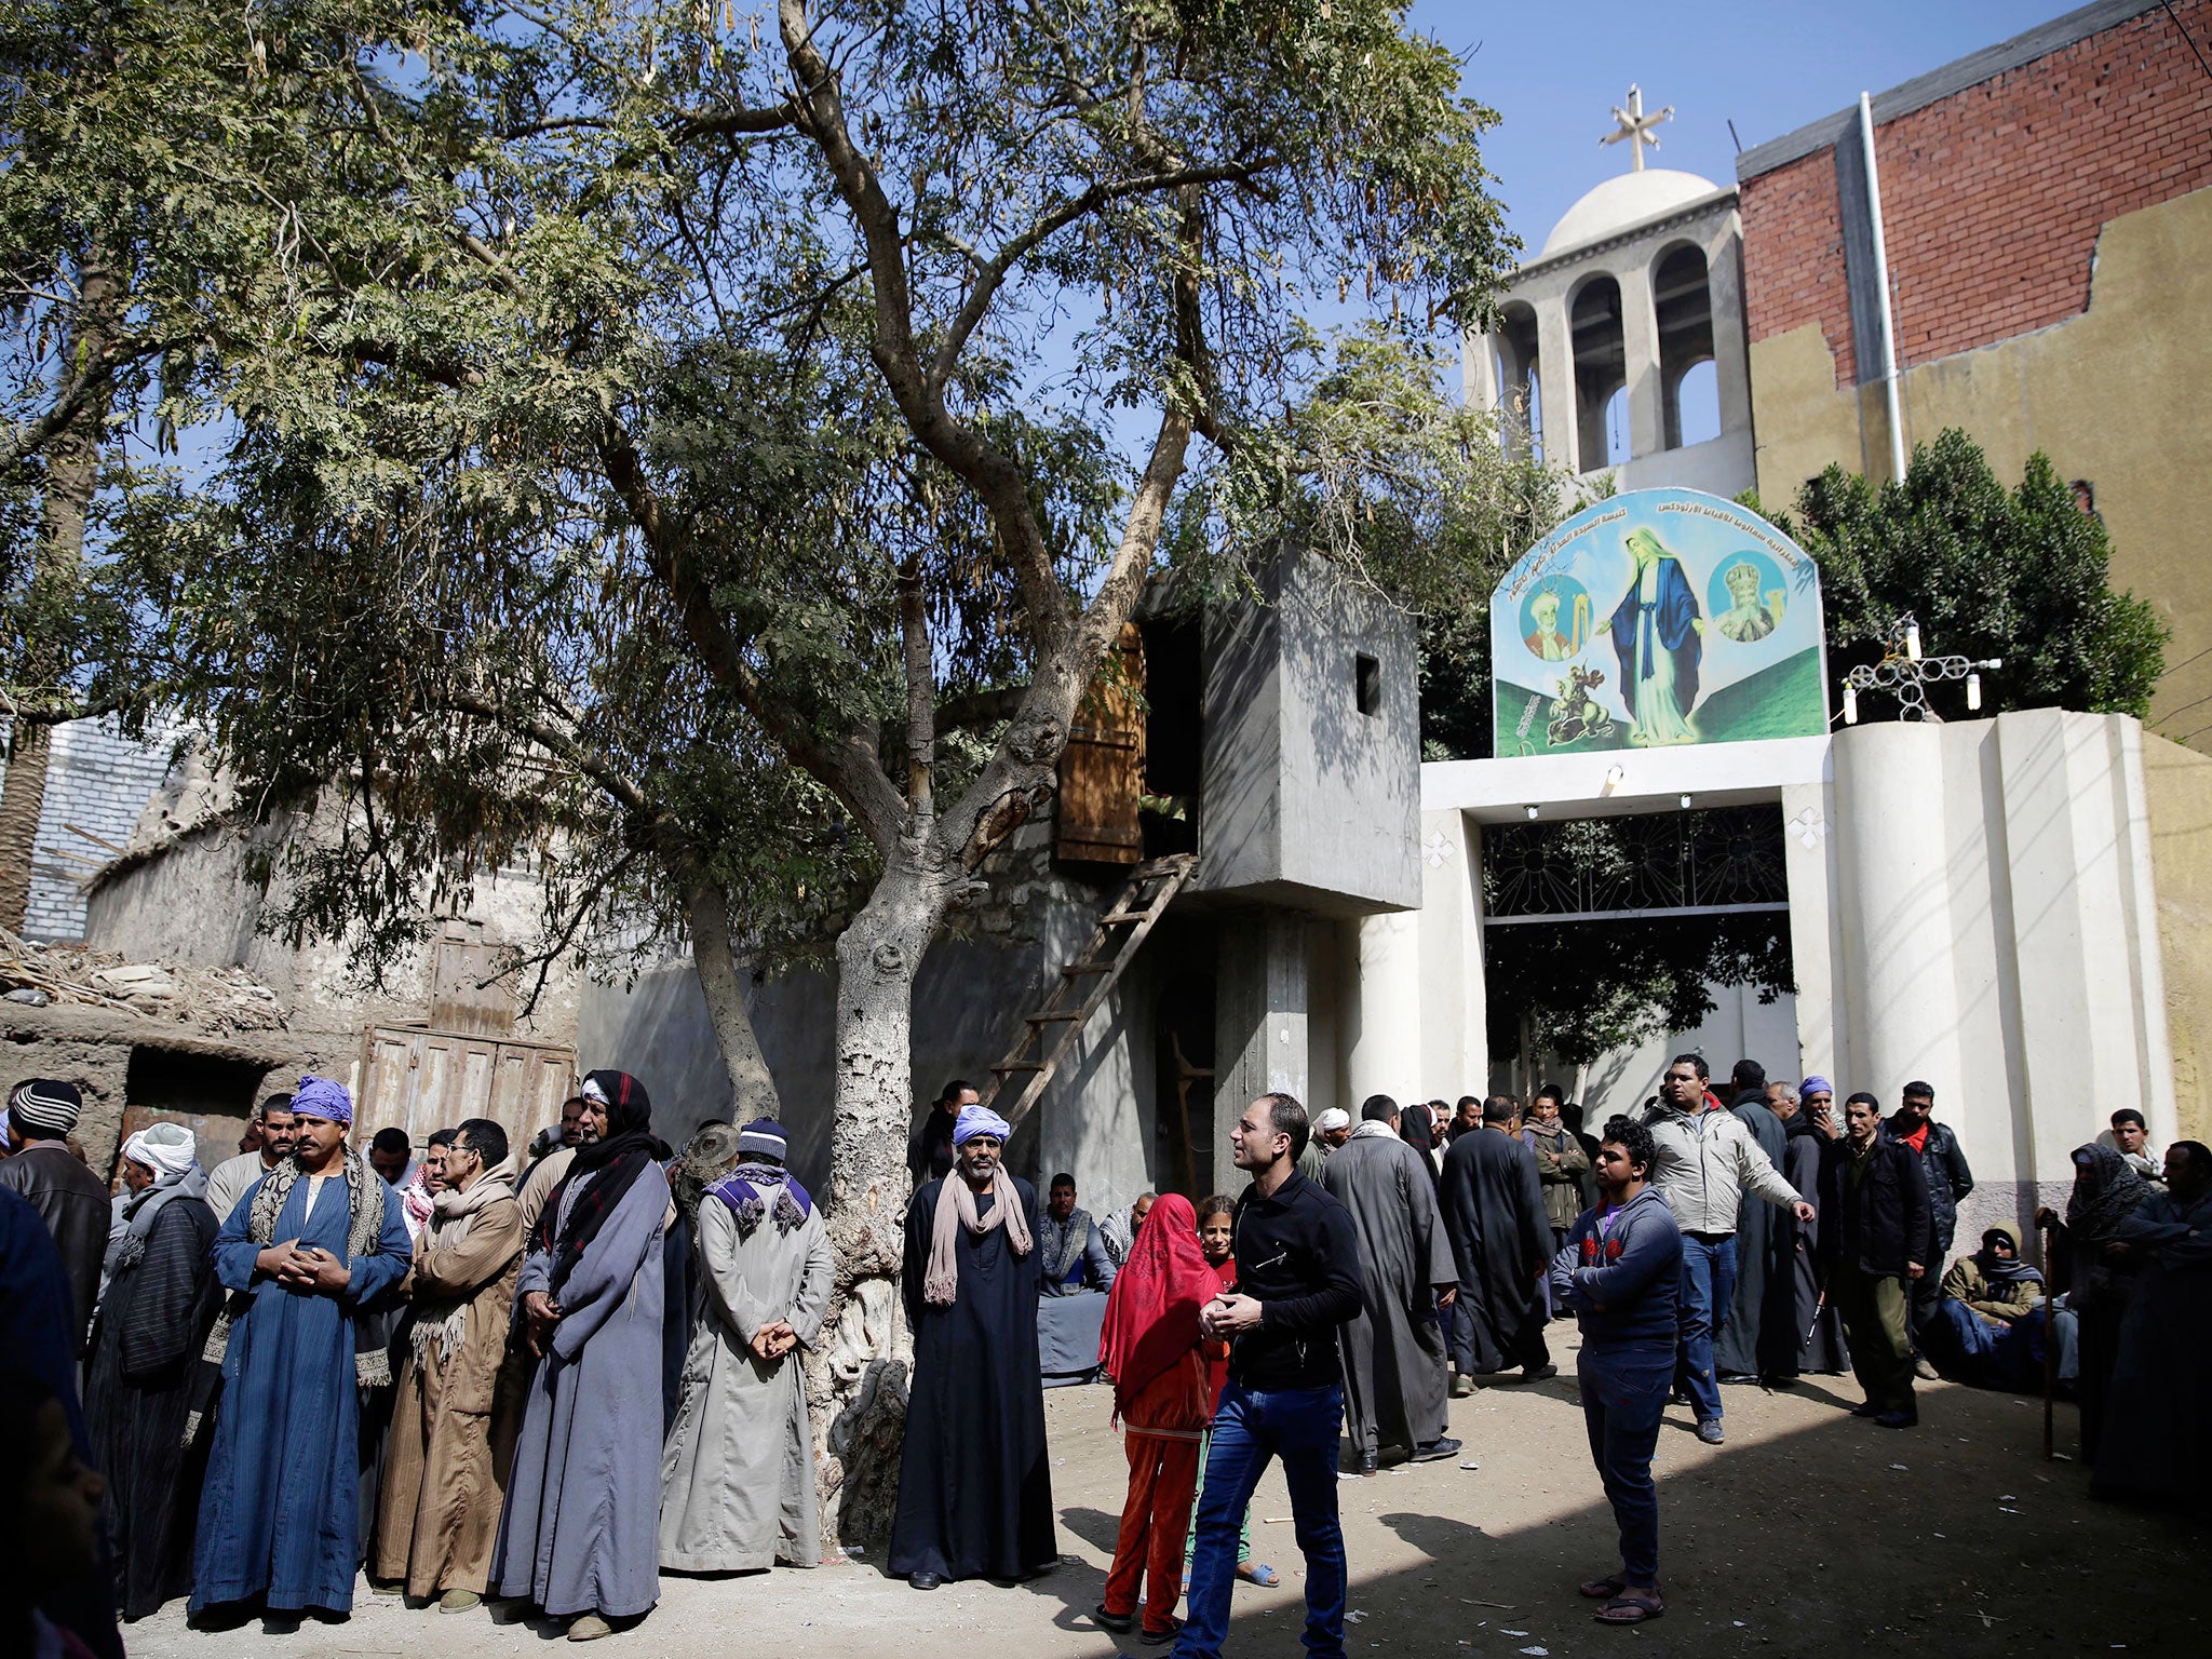
<svg viewBox="0 0 2212 1659"><path fill-rule="evenodd" d="M834 1263L779 1124L706 1121L675 1155L644 1084L595 1071L529 1148L491 1119L356 1148L347 1091L307 1075L215 1170L184 1126L126 1137L111 1197L80 1110L33 1079L0 1133L0 1387L31 1389L22 1420L62 1407L100 1513L97 1559L49 1575L49 1630L115 1652L115 1613L175 1597L215 1626L343 1615L365 1571L414 1606L504 1599L588 1641L644 1619L664 1571L816 1562L796 1354ZM1248 1511L1276 1458L1307 1646L1340 1652L1340 1460L1451 1458L1449 1400L1555 1376L1568 1316L1621 1533L1619 1571L1579 1586L1606 1624L1666 1610L1661 1413L1683 1402L1723 1444L1730 1383L1849 1367L1854 1413L1909 1429L1916 1380L2055 1378L2095 1491L2212 1489L2212 1152L2157 1155L2132 1108L2075 1152L2066 1214L2037 1214L2044 1270L2002 1223L1953 1259L1973 1175L1927 1084L1838 1115L1825 1077L1770 1084L1750 1060L1723 1095L1679 1055L1601 1135L1555 1086L1374 1095L1312 1124L1263 1095L1230 1135L1243 1192L1146 1192L1104 1223L1068 1175L1040 1203L1009 1139L956 1079L909 1146L887 1564L918 1590L1057 1562L1040 1310L1086 1292L1130 1460L1095 1617L1186 1659L1219 1655L1239 1577L1274 1582Z"/></svg>

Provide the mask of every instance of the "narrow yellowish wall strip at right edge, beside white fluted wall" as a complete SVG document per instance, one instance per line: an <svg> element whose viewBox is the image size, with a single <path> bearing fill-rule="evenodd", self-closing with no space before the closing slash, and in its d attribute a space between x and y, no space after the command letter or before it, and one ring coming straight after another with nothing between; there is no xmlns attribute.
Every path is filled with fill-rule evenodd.
<svg viewBox="0 0 2212 1659"><path fill-rule="evenodd" d="M2212 1141L2212 759L2143 734L2174 1117Z"/></svg>

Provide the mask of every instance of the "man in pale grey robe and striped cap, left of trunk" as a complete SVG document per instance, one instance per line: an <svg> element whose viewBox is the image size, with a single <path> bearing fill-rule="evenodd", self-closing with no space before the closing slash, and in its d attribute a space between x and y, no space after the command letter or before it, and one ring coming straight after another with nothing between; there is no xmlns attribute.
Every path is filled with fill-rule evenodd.
<svg viewBox="0 0 2212 1659"><path fill-rule="evenodd" d="M737 1137L739 1164L699 1199L692 1343L661 1458L661 1566L814 1566L814 1431L794 1349L830 1312L830 1234L783 1168L783 1126Z"/></svg>

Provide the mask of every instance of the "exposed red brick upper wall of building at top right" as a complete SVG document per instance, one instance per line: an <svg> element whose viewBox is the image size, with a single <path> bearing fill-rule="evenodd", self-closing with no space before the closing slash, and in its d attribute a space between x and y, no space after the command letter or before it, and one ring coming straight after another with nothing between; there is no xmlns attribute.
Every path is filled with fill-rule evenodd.
<svg viewBox="0 0 2212 1659"><path fill-rule="evenodd" d="M2099 230L2212 184L2212 77L2181 38L2212 40L2212 0L2174 13L2139 9L1918 106L1920 82L1874 100L1900 363L2081 314ZM1741 179L1750 338L1818 323L1845 385L1880 372L1854 338L1845 270L1838 159L1856 166L1858 144L1851 113L1832 144Z"/></svg>

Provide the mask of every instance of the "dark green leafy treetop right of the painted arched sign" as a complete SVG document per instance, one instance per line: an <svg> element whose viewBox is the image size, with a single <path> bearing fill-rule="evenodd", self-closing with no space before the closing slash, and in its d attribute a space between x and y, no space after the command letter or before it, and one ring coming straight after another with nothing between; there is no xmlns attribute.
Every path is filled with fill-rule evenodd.
<svg viewBox="0 0 2212 1659"><path fill-rule="evenodd" d="M2168 628L2148 599L2110 588L2104 520L2075 504L2048 456L2028 456L2006 491L1949 429L1913 447L1902 484L1829 467L1798 491L1794 518L1767 518L1820 564L1832 681L1878 661L1885 630L1911 613L1929 650L2004 659L1982 675L1986 712L2150 712Z"/></svg>

